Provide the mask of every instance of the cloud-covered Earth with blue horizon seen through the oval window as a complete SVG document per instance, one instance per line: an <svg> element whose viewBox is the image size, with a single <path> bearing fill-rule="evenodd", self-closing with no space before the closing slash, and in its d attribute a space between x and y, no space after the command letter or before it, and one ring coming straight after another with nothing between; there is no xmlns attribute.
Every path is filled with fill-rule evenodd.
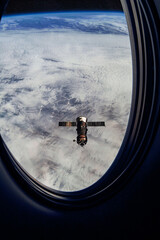
<svg viewBox="0 0 160 240"><path fill-rule="evenodd" d="M131 106L124 13L6 16L0 46L0 128L15 159L53 189L96 182L119 151ZM105 126L59 126L79 116Z"/></svg>

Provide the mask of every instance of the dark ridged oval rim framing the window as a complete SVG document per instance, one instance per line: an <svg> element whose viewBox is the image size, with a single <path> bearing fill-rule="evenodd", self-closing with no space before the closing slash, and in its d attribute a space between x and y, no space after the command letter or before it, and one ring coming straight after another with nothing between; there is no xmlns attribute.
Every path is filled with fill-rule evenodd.
<svg viewBox="0 0 160 240"><path fill-rule="evenodd" d="M2 1L0 15L7 2ZM128 23L132 49L132 105L122 146L106 174L84 190L53 190L33 179L14 159L0 137L0 157L7 171L31 197L47 206L88 207L116 194L143 162L156 133L160 109L160 46L156 27L158 14L151 1L121 0L121 3Z"/></svg>

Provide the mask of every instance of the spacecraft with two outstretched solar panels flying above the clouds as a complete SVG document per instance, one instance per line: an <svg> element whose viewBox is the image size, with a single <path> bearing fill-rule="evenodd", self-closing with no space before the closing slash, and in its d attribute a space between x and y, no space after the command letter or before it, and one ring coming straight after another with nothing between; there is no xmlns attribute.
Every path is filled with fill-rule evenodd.
<svg viewBox="0 0 160 240"><path fill-rule="evenodd" d="M105 122L88 122L86 117L77 117L76 122L59 122L59 126L77 127L77 144L83 147L87 143L87 127L105 127Z"/></svg>

